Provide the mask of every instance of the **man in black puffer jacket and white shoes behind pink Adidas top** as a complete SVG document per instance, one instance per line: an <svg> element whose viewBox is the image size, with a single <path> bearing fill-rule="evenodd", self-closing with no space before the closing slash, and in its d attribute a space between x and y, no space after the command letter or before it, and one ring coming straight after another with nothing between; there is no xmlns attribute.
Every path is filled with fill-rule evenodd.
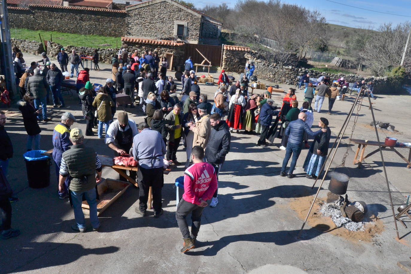
<svg viewBox="0 0 411 274"><path fill-rule="evenodd" d="M218 113L210 115L210 124L212 130L207 147L205 147L205 159L208 163L211 163L212 166L214 166L218 182L218 173L226 159L226 154L230 151L231 135L228 125L225 121L221 120L221 116ZM217 193L218 184L217 190L212 196L210 207L215 207L217 205Z"/></svg>

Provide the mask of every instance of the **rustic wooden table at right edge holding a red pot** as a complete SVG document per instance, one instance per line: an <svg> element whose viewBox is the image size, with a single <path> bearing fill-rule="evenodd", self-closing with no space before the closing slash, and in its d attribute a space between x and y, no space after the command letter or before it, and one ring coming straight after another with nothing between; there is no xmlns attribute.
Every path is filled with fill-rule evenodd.
<svg viewBox="0 0 411 274"><path fill-rule="evenodd" d="M379 151L379 148L377 148L376 150L370 152L369 154L364 156L365 153L365 147L367 145L374 145L374 146L378 146L378 142L376 141L365 141L365 140L359 140L359 139L349 139L351 142L358 144L358 148L356 151L356 155L354 157L354 161L353 164L358 163L358 168L361 167L361 163L363 162L364 159L368 158L369 156L371 156L372 154L376 153ZM407 148L409 149L409 153L408 153L408 159L405 158L404 156L402 156L401 153L399 153L395 148ZM360 153L361 150L361 153ZM403 147L390 147L388 145L386 145L385 143L381 143L381 150L384 151L394 151L395 153L398 154L399 157L401 157L401 159L403 159L406 163L407 163L407 168L411 167L411 146L403 146ZM360 158L358 158L358 154L360 154Z"/></svg>

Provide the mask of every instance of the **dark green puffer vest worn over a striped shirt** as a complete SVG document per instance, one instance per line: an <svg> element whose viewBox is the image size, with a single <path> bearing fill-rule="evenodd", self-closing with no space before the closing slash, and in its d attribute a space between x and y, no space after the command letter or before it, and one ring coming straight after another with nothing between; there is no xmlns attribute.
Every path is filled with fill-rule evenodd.
<svg viewBox="0 0 411 274"><path fill-rule="evenodd" d="M71 177L71 191L83 192L96 186L96 152L93 148L85 147L83 144L72 145L62 154L62 158Z"/></svg>

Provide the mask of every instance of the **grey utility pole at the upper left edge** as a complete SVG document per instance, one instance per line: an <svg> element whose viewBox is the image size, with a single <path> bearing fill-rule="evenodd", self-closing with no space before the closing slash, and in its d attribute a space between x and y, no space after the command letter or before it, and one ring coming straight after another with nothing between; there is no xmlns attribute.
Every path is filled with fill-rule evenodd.
<svg viewBox="0 0 411 274"><path fill-rule="evenodd" d="M16 94L16 82L14 76L12 44L10 41L9 14L6 0L0 0L0 71L4 75L6 88L10 95Z"/></svg>

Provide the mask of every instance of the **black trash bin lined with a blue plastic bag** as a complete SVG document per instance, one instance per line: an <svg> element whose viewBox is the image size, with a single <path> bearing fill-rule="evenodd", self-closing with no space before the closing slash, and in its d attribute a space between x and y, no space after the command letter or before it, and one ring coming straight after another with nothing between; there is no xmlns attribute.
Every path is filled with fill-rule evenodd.
<svg viewBox="0 0 411 274"><path fill-rule="evenodd" d="M39 189L50 185L50 157L42 155L46 150L31 150L23 154L28 185Z"/></svg>

